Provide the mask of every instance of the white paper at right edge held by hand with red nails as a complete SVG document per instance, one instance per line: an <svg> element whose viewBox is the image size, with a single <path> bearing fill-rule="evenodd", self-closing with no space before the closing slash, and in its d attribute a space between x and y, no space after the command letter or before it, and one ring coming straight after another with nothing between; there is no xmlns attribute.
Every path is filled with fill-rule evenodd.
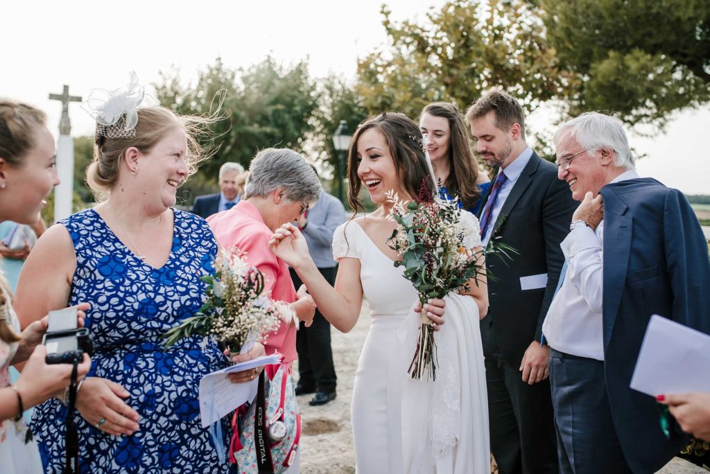
<svg viewBox="0 0 710 474"><path fill-rule="evenodd" d="M710 392L710 336L653 315L643 337L630 387L655 397Z"/></svg>

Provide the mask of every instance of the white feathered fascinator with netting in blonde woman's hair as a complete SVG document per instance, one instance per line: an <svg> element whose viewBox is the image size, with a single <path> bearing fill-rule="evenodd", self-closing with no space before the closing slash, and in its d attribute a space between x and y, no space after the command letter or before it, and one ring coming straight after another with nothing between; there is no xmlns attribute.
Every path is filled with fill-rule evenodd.
<svg viewBox="0 0 710 474"><path fill-rule="evenodd" d="M138 106L145 94L143 86L138 84L138 76L131 71L126 87L113 91L92 89L82 109L96 120L96 131L100 136L132 138L136 136Z"/></svg>

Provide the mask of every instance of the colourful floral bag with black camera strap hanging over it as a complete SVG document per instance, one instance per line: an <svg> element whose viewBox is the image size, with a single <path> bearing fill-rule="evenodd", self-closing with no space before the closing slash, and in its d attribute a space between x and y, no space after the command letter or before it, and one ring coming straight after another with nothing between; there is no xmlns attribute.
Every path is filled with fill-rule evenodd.
<svg viewBox="0 0 710 474"><path fill-rule="evenodd" d="M256 397L234 413L229 461L239 473L285 473L295 461L301 434L288 365L266 365Z"/></svg>

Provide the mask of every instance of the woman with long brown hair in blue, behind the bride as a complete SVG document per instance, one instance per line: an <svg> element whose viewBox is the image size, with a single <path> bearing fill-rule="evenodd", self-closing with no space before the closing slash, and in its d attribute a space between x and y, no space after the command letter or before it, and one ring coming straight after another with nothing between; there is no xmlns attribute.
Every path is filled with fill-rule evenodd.
<svg viewBox="0 0 710 474"><path fill-rule="evenodd" d="M449 102L427 105L419 118L419 128L429 136L427 151L439 181L439 196L450 200L458 195L461 206L478 214L491 181L479 172L466 123L457 107Z"/></svg>

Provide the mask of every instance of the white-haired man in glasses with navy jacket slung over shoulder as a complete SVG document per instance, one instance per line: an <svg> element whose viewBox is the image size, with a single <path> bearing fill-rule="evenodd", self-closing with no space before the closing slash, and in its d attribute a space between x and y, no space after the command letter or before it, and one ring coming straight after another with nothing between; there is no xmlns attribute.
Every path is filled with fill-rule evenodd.
<svg viewBox="0 0 710 474"><path fill-rule="evenodd" d="M688 442L630 389L652 314L710 334L710 260L677 189L634 170L621 121L596 112L555 134L558 177L581 204L543 324L562 473L654 473Z"/></svg>

